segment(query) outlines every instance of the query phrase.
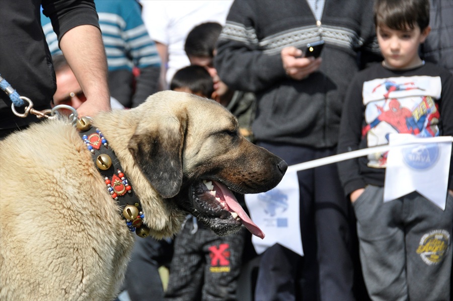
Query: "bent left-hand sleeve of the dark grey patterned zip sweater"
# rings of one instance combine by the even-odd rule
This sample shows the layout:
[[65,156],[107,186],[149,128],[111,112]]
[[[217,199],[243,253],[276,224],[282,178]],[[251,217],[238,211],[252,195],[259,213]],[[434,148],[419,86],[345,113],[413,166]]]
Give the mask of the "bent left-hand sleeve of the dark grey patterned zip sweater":
[[266,18],[266,3],[235,1],[217,41],[214,65],[219,77],[233,90],[259,92],[286,77],[280,53],[263,53],[256,38],[256,24]]

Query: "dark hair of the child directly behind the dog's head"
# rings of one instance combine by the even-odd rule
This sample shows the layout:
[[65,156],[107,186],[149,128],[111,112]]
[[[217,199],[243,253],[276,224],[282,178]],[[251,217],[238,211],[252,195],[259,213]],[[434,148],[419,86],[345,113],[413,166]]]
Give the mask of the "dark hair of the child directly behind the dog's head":
[[176,71],[170,83],[170,90],[176,88],[188,88],[194,94],[210,98],[214,92],[214,83],[204,67],[190,65]]

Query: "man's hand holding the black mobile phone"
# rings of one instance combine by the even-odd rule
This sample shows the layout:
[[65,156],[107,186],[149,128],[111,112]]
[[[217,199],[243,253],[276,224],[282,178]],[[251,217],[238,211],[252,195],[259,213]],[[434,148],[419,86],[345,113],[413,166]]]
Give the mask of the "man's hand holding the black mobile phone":
[[302,50],[293,46],[281,50],[281,61],[286,74],[293,80],[300,81],[319,69],[321,57],[301,57]]

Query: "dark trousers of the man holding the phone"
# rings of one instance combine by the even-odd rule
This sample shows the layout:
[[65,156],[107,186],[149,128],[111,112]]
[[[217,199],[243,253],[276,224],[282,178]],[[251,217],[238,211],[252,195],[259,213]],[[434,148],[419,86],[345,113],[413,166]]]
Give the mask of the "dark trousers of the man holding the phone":
[[[257,143],[288,165],[336,154],[335,148]],[[297,173],[304,257],[274,245],[261,255],[255,299],[354,300],[353,211],[335,164]],[[355,244],[356,247],[356,244]]]

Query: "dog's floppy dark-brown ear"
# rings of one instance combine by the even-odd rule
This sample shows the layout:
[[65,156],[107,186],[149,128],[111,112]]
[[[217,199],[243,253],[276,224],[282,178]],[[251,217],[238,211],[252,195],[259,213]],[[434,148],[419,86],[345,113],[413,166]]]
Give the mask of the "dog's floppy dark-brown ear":
[[175,196],[181,188],[185,129],[185,115],[168,118],[154,129],[139,126],[128,144],[135,163],[164,198]]

